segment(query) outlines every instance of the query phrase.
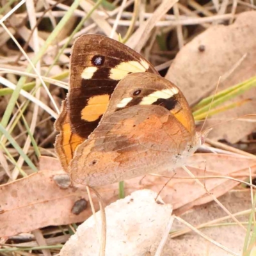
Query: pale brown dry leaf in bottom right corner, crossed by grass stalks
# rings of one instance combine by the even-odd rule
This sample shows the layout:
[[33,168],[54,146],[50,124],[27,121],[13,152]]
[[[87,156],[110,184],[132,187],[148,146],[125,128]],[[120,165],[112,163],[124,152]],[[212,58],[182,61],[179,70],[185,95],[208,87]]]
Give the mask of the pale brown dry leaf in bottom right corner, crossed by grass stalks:
[[[251,209],[252,207],[250,191],[248,190],[230,191],[226,195],[221,196],[219,200],[221,204],[225,205],[228,211],[232,212],[232,214]],[[223,218],[225,216],[227,216],[227,214],[225,214],[223,209],[221,209],[216,202],[211,202],[195,207],[192,211],[182,214],[181,217],[196,227],[197,225],[202,225],[208,221],[218,220],[218,218]],[[237,216],[237,218],[239,221],[248,221],[249,215],[247,213],[242,216]],[[229,222],[230,219],[222,221],[221,223]],[[177,231],[183,228],[187,227],[174,221],[172,230]],[[232,250],[232,252],[237,253],[237,255],[241,255],[243,252],[245,232],[237,225],[216,225],[215,227],[202,228],[200,231],[229,250]],[[207,242],[203,237],[195,234],[195,232],[190,232],[184,236],[170,238],[166,243],[163,252],[163,256],[167,255],[230,256],[231,254],[225,252],[218,246]]]

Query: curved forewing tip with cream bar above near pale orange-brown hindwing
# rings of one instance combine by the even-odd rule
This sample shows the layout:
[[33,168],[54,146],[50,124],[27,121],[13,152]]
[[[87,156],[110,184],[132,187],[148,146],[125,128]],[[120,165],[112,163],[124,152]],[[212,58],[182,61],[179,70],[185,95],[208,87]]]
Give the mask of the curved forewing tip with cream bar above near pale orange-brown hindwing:
[[145,72],[126,76],[118,83],[105,115],[136,105],[162,106],[191,134],[195,134],[195,121],[184,95],[177,86],[161,76]]

